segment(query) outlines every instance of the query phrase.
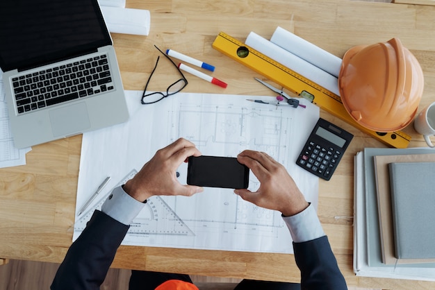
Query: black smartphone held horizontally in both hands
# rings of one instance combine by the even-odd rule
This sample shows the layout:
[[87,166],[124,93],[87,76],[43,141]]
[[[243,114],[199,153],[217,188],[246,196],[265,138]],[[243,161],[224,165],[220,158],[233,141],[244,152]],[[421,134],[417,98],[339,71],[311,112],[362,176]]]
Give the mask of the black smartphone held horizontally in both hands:
[[234,157],[190,156],[187,183],[201,187],[246,189],[249,168]]

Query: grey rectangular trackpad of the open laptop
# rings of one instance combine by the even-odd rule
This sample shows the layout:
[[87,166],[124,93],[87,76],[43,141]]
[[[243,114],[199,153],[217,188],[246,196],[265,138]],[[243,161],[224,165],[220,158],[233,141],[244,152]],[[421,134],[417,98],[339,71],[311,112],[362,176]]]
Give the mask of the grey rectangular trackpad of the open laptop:
[[82,130],[90,128],[86,103],[78,103],[57,110],[51,110],[49,114],[51,130],[56,137],[81,133]]

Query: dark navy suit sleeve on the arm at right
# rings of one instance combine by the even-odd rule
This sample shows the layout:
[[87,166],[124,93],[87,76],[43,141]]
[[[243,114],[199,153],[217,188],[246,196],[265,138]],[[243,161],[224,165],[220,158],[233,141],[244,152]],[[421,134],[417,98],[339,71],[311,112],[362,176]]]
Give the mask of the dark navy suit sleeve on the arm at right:
[[293,249],[301,271],[301,289],[347,289],[326,236],[293,243]]

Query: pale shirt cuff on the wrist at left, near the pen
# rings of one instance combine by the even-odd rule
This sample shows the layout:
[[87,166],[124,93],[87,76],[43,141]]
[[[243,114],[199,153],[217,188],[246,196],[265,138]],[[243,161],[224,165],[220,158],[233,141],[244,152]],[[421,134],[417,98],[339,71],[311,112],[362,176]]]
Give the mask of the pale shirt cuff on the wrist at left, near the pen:
[[103,203],[101,212],[120,223],[124,223],[124,225],[130,225],[143,207],[145,207],[145,203],[136,201],[122,187],[115,187]]

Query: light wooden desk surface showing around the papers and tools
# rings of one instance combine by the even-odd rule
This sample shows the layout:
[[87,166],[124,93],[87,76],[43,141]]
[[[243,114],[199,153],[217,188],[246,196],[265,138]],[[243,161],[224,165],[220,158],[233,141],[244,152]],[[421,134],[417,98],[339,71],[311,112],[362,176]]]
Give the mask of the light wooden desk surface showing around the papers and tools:
[[[420,61],[425,92],[420,109],[435,101],[435,7],[357,1],[288,0],[128,0],[127,7],[151,11],[149,36],[113,35],[125,89],[143,89],[158,51],[188,52],[217,67],[213,76],[229,83],[227,89],[186,75],[186,92],[266,94],[258,76],[212,49],[220,31],[245,40],[250,31],[269,38],[281,26],[342,57],[357,44],[399,37]],[[150,89],[164,90],[176,72],[159,64]],[[176,97],[176,96],[174,96]],[[352,271],[353,157],[365,147],[384,147],[331,115],[321,116],[355,135],[329,182],[320,180],[318,215],[329,236],[347,283],[382,289],[434,289],[435,283],[357,278]],[[412,126],[411,146],[425,146]],[[72,242],[81,136],[33,146],[27,165],[0,170],[0,257],[61,262]],[[122,246],[114,267],[182,272],[259,280],[299,281],[292,255],[226,253]]]

